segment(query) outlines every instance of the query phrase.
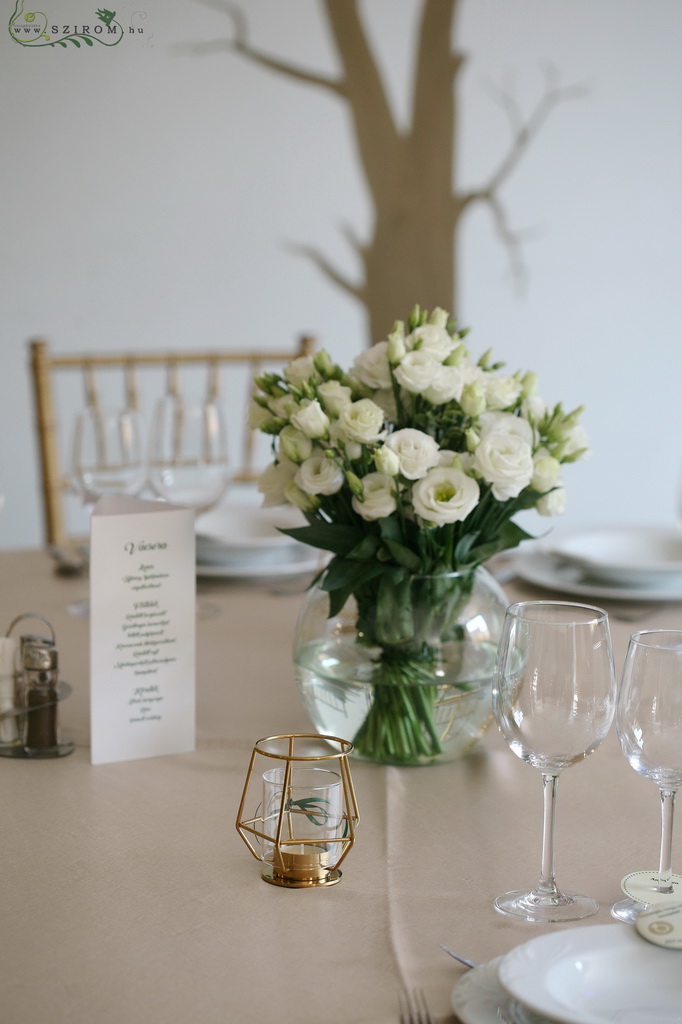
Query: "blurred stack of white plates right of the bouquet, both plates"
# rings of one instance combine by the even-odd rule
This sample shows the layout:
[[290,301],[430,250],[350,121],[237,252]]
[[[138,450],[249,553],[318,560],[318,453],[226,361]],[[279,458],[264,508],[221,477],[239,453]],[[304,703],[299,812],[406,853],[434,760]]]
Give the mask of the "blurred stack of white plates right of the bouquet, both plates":
[[528,546],[522,580],[581,597],[682,600],[682,532],[666,526],[594,527]]

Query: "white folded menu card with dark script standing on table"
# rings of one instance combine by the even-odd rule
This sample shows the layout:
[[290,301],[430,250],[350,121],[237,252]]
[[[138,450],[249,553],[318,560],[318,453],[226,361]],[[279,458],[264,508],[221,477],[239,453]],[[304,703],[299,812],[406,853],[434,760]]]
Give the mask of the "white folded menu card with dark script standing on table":
[[195,749],[195,514],[109,496],[90,527],[92,764]]

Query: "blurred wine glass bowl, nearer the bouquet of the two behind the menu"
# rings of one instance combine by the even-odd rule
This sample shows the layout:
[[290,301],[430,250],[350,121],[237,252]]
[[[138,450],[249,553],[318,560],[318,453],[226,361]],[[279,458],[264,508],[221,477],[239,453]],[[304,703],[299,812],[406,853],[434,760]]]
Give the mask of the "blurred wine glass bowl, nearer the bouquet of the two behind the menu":
[[158,403],[152,425],[150,482],[160,498],[197,515],[223,496],[230,478],[227,431],[214,400],[186,402],[177,393]]

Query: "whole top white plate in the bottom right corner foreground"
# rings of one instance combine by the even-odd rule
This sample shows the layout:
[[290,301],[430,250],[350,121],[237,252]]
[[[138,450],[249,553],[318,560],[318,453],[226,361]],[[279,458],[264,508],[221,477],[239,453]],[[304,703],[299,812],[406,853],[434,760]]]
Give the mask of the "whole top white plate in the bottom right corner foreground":
[[513,999],[558,1024],[682,1024],[682,957],[632,925],[540,935],[502,957]]

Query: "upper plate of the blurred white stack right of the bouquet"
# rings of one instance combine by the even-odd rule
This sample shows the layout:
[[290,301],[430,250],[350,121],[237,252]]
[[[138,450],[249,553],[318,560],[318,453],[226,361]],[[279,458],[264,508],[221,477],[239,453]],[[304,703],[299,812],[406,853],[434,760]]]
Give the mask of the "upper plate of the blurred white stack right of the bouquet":
[[567,534],[554,554],[580,565],[595,582],[652,587],[682,581],[682,532],[668,526],[597,526]]

